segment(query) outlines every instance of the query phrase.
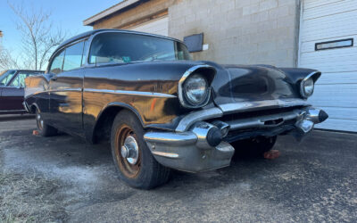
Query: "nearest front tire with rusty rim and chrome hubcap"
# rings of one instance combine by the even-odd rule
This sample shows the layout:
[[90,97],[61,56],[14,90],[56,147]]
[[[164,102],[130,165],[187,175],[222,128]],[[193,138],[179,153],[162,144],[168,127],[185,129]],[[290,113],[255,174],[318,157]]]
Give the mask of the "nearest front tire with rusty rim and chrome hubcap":
[[120,111],[112,124],[112,158],[119,178],[139,189],[166,183],[170,169],[158,163],[144,140],[144,129],[130,111]]

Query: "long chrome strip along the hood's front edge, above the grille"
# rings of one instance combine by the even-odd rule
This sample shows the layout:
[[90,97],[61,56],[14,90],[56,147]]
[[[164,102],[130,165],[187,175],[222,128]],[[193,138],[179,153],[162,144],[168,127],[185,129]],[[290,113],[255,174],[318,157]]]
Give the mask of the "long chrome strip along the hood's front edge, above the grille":
[[294,106],[311,106],[303,99],[277,99],[277,100],[264,100],[257,102],[244,102],[244,103],[225,103],[218,105],[223,113],[234,113],[244,111],[258,111],[262,108],[285,108]]

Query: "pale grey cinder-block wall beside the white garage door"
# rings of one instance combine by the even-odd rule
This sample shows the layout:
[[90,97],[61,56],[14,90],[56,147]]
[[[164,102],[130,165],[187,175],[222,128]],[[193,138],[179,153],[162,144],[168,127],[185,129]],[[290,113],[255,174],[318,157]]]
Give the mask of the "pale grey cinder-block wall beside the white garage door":
[[169,35],[204,34],[209,49],[195,60],[295,66],[298,0],[178,0],[169,8]]

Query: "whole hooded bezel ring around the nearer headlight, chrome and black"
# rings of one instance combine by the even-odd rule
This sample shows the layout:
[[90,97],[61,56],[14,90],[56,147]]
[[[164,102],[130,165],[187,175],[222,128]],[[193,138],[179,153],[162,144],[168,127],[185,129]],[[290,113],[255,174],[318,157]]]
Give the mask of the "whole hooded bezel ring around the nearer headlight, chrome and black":
[[[178,95],[179,95],[179,102],[181,103],[181,105],[189,109],[201,108],[207,105],[207,103],[211,101],[211,95],[212,95],[211,84],[215,74],[216,74],[216,70],[210,65],[197,65],[188,69],[184,73],[182,78],[179,79]],[[187,80],[189,80],[189,78],[195,77],[195,75],[200,75],[202,78],[206,80],[207,83],[205,98],[200,103],[194,103],[187,98],[187,92],[186,92]]]

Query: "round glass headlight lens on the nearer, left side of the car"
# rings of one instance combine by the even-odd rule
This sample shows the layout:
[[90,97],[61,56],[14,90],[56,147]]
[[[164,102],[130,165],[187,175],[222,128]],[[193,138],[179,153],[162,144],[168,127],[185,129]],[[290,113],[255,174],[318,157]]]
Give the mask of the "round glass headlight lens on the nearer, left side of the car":
[[209,87],[206,78],[200,74],[194,74],[187,78],[185,83],[185,94],[189,103],[199,105],[204,103],[209,96]]

